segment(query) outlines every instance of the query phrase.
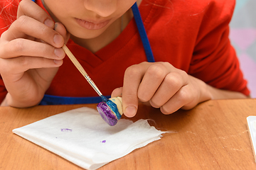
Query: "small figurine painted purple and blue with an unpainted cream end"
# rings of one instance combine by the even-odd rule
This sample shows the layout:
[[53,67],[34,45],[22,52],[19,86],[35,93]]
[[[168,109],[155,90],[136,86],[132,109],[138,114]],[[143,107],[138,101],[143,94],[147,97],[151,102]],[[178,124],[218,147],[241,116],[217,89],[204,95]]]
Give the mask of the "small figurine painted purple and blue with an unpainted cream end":
[[100,102],[97,105],[97,111],[110,126],[116,125],[123,114],[122,98],[110,98],[107,102]]

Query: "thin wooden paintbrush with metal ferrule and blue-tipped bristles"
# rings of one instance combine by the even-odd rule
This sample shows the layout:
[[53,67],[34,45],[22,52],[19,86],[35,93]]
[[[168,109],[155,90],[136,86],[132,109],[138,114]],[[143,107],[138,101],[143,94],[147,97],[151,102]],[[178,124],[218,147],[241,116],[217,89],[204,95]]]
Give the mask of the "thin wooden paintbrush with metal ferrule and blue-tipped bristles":
[[107,102],[107,98],[102,95],[100,90],[97,88],[96,84],[90,79],[87,72],[85,72],[85,69],[82,68],[82,65],[78,62],[78,60],[75,58],[75,56],[70,52],[68,47],[64,44],[63,50],[65,51],[66,55],[70,58],[71,62],[75,65],[75,67],[79,70],[79,72],[82,74],[83,77],[88,81],[88,83],[92,86],[92,88],[96,91],[96,93],[102,98],[102,101]]

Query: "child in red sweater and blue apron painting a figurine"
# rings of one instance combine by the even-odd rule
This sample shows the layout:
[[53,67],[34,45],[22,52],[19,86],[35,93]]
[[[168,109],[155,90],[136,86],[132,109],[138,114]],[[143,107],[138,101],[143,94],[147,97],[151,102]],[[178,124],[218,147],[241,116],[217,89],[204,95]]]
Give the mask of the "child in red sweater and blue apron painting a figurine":
[[234,5],[0,1],[1,106],[99,102],[65,57],[64,43],[103,95],[122,96],[128,117],[137,113],[139,101],[170,114],[210,99],[246,98],[250,91],[228,40]]

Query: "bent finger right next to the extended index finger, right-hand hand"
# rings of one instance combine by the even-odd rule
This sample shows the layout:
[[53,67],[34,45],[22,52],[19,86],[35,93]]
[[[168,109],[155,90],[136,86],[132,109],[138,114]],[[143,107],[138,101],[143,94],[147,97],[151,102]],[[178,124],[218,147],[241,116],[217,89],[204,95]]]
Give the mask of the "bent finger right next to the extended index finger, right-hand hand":
[[139,84],[139,100],[142,102],[149,101],[154,96],[168,72],[169,70],[161,62],[151,64],[146,69],[142,82]]

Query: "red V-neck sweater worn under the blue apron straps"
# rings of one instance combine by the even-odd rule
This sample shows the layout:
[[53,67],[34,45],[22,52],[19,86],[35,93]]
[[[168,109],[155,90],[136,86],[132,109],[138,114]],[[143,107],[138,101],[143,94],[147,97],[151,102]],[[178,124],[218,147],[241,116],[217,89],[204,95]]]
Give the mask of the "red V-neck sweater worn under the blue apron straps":
[[[0,7],[15,15],[17,4],[0,1]],[[41,1],[37,4],[43,8]],[[210,86],[249,95],[235,50],[228,39],[235,0],[143,0],[139,11],[156,62],[170,62]],[[0,17],[0,34],[8,28],[6,13]],[[146,61],[134,20],[106,47],[93,54],[68,41],[68,47],[97,84],[103,95],[122,86],[124,71],[132,64]],[[6,96],[0,79],[0,102]],[[55,96],[97,96],[92,87],[65,57],[46,94]]]

